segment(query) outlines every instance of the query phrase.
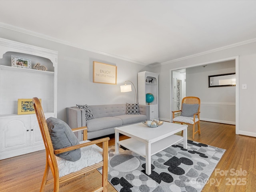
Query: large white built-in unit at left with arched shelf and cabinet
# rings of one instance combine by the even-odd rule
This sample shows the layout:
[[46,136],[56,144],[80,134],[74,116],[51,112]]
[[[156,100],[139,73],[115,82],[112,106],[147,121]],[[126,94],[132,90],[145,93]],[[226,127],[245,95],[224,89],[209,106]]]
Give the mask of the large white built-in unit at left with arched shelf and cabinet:
[[[12,55],[32,68],[12,66]],[[33,68],[38,62],[48,70]],[[56,51],[0,38],[0,160],[44,149],[36,115],[18,115],[18,99],[38,97],[46,118],[57,117],[57,64]]]

